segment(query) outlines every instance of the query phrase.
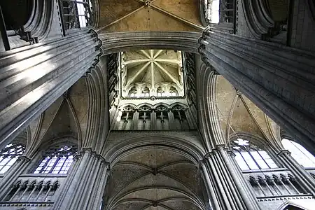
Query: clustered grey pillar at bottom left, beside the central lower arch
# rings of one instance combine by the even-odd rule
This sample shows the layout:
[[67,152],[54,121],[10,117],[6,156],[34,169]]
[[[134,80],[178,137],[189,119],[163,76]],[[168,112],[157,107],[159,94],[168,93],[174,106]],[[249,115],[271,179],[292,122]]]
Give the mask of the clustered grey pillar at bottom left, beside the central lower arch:
[[99,209],[109,176],[109,165],[90,148],[83,148],[78,160],[59,188],[53,209]]

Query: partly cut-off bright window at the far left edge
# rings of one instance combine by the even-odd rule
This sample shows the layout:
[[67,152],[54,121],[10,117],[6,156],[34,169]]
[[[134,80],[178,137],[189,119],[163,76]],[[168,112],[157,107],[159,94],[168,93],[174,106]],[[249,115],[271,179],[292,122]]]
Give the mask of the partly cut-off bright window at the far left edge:
[[8,144],[0,151],[0,174],[3,174],[18,160],[18,156],[25,151],[25,146],[22,144]]

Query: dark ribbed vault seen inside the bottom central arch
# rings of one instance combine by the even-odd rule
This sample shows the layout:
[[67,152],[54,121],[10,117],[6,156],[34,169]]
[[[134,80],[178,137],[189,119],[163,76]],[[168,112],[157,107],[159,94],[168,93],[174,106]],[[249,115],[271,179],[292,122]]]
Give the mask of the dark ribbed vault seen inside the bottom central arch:
[[111,174],[107,210],[205,209],[197,166],[174,151],[153,146],[128,153]]

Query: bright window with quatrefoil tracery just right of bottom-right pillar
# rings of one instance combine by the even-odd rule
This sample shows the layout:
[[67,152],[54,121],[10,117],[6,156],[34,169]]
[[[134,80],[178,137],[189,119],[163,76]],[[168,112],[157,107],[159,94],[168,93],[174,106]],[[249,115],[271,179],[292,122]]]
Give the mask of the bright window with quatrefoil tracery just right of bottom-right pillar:
[[250,144],[247,140],[237,139],[233,141],[232,150],[241,170],[277,168],[266,151]]

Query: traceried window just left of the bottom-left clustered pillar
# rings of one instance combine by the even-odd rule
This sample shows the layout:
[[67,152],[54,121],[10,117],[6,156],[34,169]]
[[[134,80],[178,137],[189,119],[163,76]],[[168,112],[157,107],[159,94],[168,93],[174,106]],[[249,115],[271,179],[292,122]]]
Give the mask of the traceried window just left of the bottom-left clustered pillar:
[[48,148],[36,167],[34,174],[66,174],[76,155],[78,146],[63,145]]

